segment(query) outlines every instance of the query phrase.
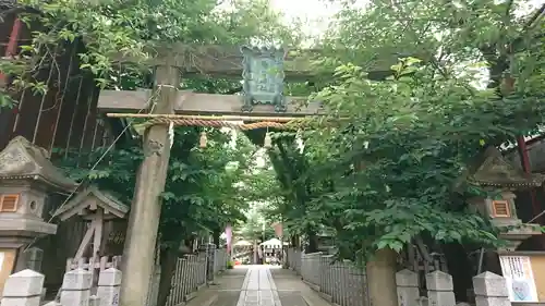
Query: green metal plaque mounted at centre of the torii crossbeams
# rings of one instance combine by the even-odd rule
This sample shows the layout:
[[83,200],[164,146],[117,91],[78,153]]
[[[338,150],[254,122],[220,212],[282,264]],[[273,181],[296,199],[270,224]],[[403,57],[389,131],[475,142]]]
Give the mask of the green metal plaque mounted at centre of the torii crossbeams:
[[271,105],[284,112],[283,49],[242,47],[243,94],[242,111],[251,112],[256,105]]

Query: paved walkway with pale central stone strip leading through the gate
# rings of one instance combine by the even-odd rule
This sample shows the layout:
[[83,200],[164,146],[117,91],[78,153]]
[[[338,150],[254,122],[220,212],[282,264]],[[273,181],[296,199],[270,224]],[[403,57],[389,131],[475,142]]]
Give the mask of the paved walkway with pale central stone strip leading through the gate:
[[217,277],[187,306],[330,306],[292,271],[242,266]]

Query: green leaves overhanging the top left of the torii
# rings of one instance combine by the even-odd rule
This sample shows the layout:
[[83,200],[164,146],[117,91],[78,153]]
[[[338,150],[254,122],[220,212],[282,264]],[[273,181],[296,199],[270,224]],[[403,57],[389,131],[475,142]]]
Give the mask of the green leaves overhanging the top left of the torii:
[[[44,85],[39,84],[44,79],[35,72],[58,65],[65,53],[77,52],[74,62],[82,72],[94,76],[99,88],[135,89],[150,86],[143,77],[149,74],[145,62],[155,56],[159,45],[292,45],[300,39],[296,25],[280,23],[280,15],[264,0],[235,0],[229,9],[218,7],[216,0],[111,0],[94,4],[84,0],[22,0],[20,4],[34,9],[28,10],[33,13],[20,15],[33,25],[32,39],[20,46],[21,59],[10,59],[0,71],[15,76],[17,89],[39,89],[34,90],[39,95],[45,95],[48,87],[38,86]],[[208,83],[221,87],[221,82]]]

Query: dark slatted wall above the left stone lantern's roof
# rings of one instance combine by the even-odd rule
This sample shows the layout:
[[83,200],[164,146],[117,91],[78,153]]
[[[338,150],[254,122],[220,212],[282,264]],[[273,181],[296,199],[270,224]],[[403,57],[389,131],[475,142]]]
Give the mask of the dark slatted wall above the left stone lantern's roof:
[[[13,16],[0,24],[2,56],[5,56],[13,24]],[[29,38],[31,32],[23,27],[17,42],[24,44]],[[92,149],[104,144],[106,128],[96,109],[98,89],[93,76],[78,69],[77,51],[82,48],[77,41],[64,46],[64,51],[58,54],[58,69],[39,72],[39,77],[48,83],[46,95],[35,95],[31,90],[13,94],[19,105],[13,109],[0,109],[0,149],[17,135],[48,151],[53,147]]]

